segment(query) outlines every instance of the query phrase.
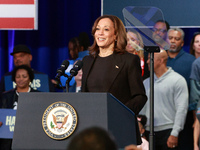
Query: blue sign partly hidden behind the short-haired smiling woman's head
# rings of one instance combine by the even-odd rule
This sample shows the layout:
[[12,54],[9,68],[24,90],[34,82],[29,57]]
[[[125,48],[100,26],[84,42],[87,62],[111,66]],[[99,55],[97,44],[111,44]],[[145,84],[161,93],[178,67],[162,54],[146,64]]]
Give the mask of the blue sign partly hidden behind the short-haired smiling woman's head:
[[[16,83],[12,81],[12,76],[8,75],[4,77],[5,79],[5,90],[11,90],[15,88]],[[34,73],[34,79],[31,83],[31,87],[35,90],[41,92],[49,92],[49,78],[46,74]]]

